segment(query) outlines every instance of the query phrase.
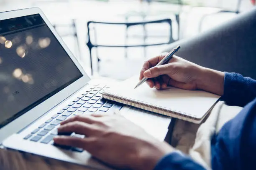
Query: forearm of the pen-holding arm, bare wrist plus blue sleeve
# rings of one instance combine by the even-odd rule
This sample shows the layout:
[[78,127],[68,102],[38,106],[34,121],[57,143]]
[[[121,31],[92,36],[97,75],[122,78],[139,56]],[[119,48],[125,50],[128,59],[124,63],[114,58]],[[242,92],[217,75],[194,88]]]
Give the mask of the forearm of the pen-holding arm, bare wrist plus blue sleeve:
[[197,89],[222,96],[228,105],[244,106],[256,97],[256,80],[240,74],[200,67]]

